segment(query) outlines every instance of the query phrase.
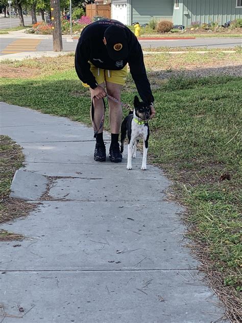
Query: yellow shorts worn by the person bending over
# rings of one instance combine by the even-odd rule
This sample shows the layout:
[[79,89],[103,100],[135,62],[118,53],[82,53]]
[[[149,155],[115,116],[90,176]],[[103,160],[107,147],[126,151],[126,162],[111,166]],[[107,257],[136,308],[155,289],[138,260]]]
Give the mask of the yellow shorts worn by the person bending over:
[[[125,85],[127,75],[128,75],[127,65],[125,65],[125,67],[119,71],[102,70],[102,68],[96,67],[92,63],[90,63],[90,65],[91,65],[90,71],[94,75],[96,82],[98,84],[101,84],[104,81],[107,81],[114,84]],[[88,84],[83,82],[82,82],[82,85],[84,87],[89,87]]]

